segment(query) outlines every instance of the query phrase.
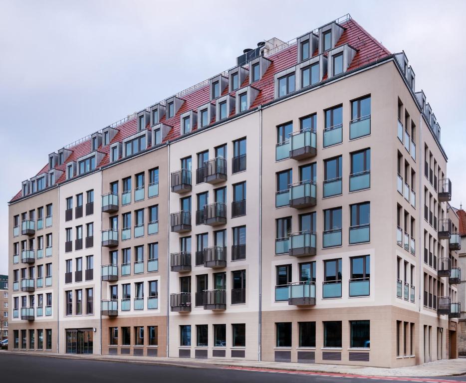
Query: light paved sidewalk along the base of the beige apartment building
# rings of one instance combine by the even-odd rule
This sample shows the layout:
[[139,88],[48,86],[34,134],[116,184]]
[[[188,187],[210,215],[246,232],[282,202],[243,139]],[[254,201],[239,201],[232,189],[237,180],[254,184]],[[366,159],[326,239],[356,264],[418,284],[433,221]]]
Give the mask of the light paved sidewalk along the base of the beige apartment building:
[[412,367],[388,369],[382,367],[360,367],[345,365],[320,365],[304,363],[254,362],[219,359],[184,359],[157,357],[128,357],[122,355],[71,355],[71,354],[31,354],[20,351],[0,351],[1,354],[37,355],[49,358],[86,359],[107,362],[165,365],[186,368],[244,368],[257,370],[303,371],[329,374],[350,374],[371,377],[447,377],[466,374],[466,359],[444,359]]

